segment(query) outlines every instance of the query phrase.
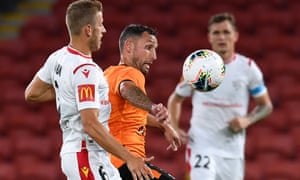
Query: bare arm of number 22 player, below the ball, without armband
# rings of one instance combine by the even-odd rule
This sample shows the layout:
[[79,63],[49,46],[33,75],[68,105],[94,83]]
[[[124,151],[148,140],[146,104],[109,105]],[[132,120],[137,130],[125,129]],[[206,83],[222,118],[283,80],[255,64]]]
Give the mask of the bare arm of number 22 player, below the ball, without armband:
[[174,127],[178,132],[182,143],[186,143],[188,141],[188,135],[179,127],[181,109],[184,100],[185,97],[178,95],[175,91],[170,95],[168,99],[169,118],[172,127]]

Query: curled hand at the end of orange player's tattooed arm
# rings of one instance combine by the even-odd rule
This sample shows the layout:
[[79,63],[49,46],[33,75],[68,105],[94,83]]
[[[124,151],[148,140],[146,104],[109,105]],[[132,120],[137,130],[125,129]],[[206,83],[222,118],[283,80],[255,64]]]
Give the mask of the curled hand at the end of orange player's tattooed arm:
[[160,123],[167,123],[169,122],[169,112],[168,109],[161,103],[153,104],[151,107],[152,115],[155,116],[156,120]]

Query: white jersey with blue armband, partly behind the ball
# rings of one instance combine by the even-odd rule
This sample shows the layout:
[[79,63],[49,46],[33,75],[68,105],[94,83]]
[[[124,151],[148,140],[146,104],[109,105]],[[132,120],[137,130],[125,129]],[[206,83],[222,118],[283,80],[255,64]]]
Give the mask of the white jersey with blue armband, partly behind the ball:
[[192,96],[192,116],[189,129],[190,146],[214,155],[228,158],[244,158],[245,130],[233,133],[228,122],[248,111],[249,95],[266,93],[261,70],[255,62],[235,54],[225,65],[225,77],[221,85],[210,92],[193,91],[186,83],[176,87],[180,96]]

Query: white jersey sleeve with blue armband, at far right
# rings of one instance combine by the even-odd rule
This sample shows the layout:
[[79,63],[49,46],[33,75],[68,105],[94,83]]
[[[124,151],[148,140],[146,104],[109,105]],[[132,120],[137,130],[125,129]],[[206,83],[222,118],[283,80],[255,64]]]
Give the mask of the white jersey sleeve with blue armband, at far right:
[[259,97],[266,93],[267,88],[263,80],[263,74],[257,64],[252,61],[250,66],[249,89],[253,97]]

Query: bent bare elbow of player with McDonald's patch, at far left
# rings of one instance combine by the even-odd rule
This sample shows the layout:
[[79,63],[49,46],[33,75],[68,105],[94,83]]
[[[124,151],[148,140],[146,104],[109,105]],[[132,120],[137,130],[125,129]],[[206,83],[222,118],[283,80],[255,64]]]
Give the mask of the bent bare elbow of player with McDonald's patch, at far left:
[[45,83],[37,75],[25,89],[25,100],[44,102],[55,100],[55,91],[51,84]]

